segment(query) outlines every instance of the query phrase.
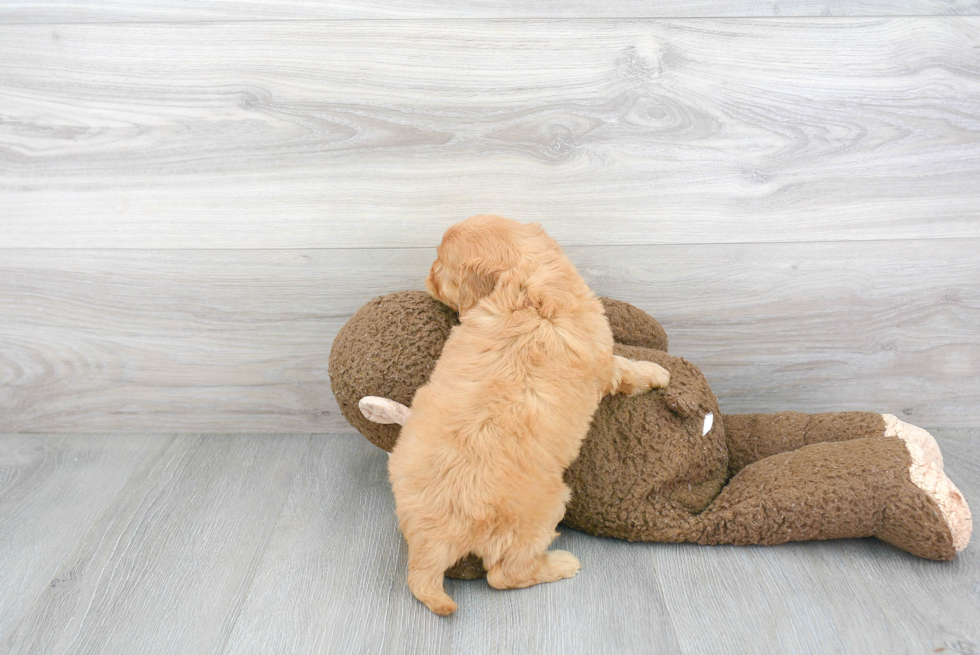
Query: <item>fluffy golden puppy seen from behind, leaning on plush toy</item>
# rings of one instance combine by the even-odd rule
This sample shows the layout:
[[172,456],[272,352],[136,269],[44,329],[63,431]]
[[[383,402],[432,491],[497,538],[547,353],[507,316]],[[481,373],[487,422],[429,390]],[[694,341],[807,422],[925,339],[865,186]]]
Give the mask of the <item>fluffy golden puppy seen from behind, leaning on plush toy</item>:
[[602,304],[540,225],[474,216],[450,227],[425,281],[459,312],[389,459],[408,542],[408,586],[436,614],[443,574],[483,559],[497,589],[574,576],[548,545],[565,514],[562,476],[609,393],[664,387],[669,373],[614,356]]

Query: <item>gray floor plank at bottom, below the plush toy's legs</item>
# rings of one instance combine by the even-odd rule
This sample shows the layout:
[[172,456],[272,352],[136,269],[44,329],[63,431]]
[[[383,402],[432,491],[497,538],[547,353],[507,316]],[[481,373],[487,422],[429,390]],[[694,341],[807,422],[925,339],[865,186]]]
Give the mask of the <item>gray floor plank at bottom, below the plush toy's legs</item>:
[[[776,547],[665,545],[651,557],[684,653],[897,653],[892,625],[850,570],[887,557],[859,542]],[[680,601],[683,599],[683,601]],[[723,629],[718,616],[726,616]]]

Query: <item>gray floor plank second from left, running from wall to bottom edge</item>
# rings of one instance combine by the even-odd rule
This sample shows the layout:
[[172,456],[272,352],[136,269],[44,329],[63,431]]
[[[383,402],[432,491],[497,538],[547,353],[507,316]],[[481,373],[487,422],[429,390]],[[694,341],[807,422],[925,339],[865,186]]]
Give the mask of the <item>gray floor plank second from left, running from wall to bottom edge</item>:
[[61,584],[0,648],[220,652],[308,445],[306,435],[179,436],[121,490],[61,563]]

